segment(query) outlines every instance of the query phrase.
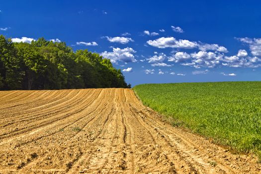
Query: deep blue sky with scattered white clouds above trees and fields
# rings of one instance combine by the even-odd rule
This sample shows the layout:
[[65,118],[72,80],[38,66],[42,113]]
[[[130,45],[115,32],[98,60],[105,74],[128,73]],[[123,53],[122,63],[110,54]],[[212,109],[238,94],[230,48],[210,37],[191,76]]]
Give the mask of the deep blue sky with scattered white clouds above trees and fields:
[[260,81],[258,0],[2,0],[0,34],[111,59],[132,86]]

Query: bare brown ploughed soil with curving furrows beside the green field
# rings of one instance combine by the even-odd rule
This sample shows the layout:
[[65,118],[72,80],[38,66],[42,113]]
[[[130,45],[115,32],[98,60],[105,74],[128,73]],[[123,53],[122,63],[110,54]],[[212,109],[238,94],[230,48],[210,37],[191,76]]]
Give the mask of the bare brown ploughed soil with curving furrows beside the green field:
[[260,174],[131,89],[0,91],[0,174]]

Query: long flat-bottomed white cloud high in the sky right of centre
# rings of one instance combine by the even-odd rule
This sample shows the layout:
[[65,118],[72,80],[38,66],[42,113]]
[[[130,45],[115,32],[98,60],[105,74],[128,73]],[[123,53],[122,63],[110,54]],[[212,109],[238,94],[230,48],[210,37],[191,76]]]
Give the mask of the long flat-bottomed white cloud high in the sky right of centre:
[[176,40],[174,37],[161,37],[156,40],[149,40],[147,43],[158,48],[186,48],[192,49],[197,46],[197,43],[188,40]]

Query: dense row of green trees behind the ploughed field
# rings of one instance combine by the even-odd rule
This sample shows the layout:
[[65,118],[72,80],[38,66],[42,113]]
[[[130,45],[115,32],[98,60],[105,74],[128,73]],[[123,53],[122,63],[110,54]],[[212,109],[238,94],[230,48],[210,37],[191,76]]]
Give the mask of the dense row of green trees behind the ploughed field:
[[65,42],[13,43],[0,35],[0,90],[130,87],[110,60]]

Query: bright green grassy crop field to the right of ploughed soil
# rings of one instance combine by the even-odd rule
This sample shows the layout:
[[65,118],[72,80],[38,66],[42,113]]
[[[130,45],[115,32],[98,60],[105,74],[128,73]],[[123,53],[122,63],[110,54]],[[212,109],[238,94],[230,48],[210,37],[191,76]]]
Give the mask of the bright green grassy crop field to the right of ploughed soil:
[[142,102],[173,125],[213,138],[261,159],[261,82],[144,84],[133,88]]

